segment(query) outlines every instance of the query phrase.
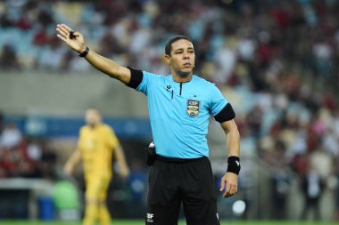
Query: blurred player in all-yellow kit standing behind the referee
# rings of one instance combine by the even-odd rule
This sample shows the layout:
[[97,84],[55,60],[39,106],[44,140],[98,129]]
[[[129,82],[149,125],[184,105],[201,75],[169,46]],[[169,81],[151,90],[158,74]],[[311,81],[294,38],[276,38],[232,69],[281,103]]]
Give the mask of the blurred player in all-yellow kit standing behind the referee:
[[120,165],[120,175],[127,177],[129,170],[120,142],[109,125],[102,123],[100,112],[89,108],[86,123],[79,132],[77,149],[63,168],[71,175],[82,159],[86,183],[86,210],[83,225],[111,225],[111,216],[105,204],[107,189],[112,179],[112,154]]

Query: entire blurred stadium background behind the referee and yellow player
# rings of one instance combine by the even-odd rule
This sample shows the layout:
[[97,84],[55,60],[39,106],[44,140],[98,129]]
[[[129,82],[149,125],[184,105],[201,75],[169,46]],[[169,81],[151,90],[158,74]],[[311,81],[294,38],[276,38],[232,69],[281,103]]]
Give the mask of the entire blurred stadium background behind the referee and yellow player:
[[[222,220],[339,221],[338,12],[336,0],[0,1],[0,221],[81,218],[81,167],[74,179],[61,171],[89,107],[131,169],[112,180],[112,217],[145,214],[145,96],[71,52],[57,23],[122,65],[163,75],[168,38],[193,40],[195,74],[232,103],[242,136],[239,193],[218,194]],[[213,120],[209,131],[218,186],[225,137]]]

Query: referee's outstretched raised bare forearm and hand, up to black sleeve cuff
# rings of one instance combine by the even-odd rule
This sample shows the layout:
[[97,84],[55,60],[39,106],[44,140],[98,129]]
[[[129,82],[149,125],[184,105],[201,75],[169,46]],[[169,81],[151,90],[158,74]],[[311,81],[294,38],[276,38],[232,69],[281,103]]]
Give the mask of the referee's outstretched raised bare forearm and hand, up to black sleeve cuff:
[[65,24],[56,26],[57,36],[62,39],[72,50],[79,53],[95,68],[113,78],[120,80],[124,84],[129,84],[131,73],[128,68],[122,67],[115,61],[107,59],[91,49],[88,49],[85,38],[79,31],[73,31]]

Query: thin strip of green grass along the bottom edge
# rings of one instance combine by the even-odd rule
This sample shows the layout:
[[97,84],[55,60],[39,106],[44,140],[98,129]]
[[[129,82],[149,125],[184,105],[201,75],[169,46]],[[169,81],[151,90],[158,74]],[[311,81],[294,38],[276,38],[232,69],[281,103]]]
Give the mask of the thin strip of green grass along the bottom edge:
[[[143,225],[144,221],[114,220],[112,225]],[[223,221],[221,225],[337,225],[338,222],[315,222],[315,221]],[[0,221],[0,225],[81,225],[80,222],[64,221]],[[180,221],[178,225],[186,225]]]

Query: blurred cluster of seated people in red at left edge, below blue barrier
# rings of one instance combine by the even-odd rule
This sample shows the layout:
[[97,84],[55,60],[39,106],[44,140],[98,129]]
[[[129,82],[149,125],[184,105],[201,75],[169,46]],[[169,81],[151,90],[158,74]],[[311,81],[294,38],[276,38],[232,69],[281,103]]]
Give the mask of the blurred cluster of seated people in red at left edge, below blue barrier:
[[0,123],[0,179],[55,178],[56,153],[47,141],[29,138],[13,123]]

